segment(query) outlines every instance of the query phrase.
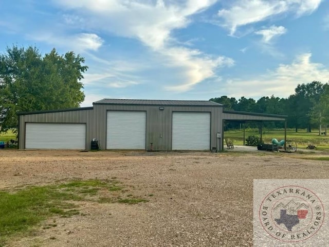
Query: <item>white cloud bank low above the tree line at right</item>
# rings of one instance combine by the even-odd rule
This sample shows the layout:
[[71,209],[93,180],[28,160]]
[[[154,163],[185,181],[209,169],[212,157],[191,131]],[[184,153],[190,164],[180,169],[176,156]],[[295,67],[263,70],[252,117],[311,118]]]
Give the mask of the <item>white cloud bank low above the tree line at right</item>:
[[[288,97],[294,94],[297,84],[321,81],[329,78],[329,69],[321,63],[310,61],[312,54],[298,56],[291,64],[280,64],[275,70],[269,70],[255,79],[235,78],[227,81],[226,92],[230,96],[262,97],[279,95]],[[257,90],[255,90],[257,89]]]

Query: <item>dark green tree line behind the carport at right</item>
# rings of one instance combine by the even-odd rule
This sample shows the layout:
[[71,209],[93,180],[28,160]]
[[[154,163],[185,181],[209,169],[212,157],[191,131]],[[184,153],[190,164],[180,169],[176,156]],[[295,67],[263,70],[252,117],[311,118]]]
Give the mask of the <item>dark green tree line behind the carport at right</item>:
[[[287,115],[287,127],[307,129],[326,126],[329,123],[329,85],[320,81],[306,84],[298,84],[295,93],[287,98],[264,96],[257,101],[252,98],[221,96],[211,98],[211,101],[224,104],[224,110],[245,111],[265,114]],[[281,128],[282,122],[265,123],[269,128]],[[228,128],[236,128],[236,124],[230,123]]]

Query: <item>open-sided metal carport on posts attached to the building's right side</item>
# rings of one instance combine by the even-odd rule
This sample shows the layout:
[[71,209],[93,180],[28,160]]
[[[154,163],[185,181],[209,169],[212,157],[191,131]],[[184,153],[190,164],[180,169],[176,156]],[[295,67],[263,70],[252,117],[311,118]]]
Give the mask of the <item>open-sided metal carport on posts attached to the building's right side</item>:
[[[286,115],[264,114],[254,112],[238,112],[238,111],[223,111],[223,124],[222,124],[222,150],[224,150],[224,123],[225,122],[259,122],[260,123],[260,138],[262,140],[262,122],[265,121],[284,121],[284,150],[287,149],[287,117]],[[243,125],[243,145],[245,145],[245,125]]]

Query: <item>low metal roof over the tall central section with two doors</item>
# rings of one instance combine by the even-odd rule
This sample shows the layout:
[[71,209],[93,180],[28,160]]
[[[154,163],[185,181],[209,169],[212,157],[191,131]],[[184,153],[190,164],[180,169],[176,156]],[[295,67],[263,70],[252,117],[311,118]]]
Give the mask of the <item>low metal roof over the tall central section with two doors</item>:
[[151,99],[101,99],[93,104],[137,104],[137,105],[186,105],[200,107],[222,107],[223,104],[209,100],[151,100]]

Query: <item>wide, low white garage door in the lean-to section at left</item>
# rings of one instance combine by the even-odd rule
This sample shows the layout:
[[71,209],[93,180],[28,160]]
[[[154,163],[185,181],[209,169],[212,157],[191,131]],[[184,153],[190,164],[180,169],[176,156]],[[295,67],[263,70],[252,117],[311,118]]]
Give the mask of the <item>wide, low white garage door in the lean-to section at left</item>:
[[26,149],[86,149],[84,123],[27,122]]

